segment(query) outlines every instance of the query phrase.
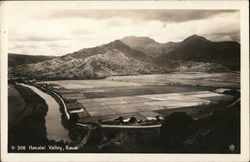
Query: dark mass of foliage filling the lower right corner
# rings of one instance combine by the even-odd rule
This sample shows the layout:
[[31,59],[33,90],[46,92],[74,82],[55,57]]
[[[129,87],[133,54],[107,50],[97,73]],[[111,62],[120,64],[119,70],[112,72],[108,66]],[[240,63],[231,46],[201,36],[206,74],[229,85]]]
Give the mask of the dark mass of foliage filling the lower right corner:
[[163,152],[240,153],[240,102],[198,120],[172,113],[163,123],[159,142]]

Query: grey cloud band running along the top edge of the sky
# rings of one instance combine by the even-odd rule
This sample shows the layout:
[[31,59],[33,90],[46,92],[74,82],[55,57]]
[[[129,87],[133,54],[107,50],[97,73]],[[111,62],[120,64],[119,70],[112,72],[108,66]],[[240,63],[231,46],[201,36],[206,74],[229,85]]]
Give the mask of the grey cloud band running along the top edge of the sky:
[[129,19],[184,22],[232,12],[237,12],[237,10],[57,10],[51,12],[46,18],[107,19],[124,17]]

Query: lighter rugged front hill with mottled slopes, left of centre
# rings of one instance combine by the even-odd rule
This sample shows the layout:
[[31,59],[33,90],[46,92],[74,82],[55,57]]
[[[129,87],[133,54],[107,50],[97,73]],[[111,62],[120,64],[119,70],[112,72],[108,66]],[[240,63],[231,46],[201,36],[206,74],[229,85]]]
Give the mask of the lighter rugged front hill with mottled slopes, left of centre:
[[36,64],[20,65],[10,70],[14,76],[36,79],[97,79],[114,75],[166,73],[167,68],[135,60],[112,49],[86,59],[66,55]]

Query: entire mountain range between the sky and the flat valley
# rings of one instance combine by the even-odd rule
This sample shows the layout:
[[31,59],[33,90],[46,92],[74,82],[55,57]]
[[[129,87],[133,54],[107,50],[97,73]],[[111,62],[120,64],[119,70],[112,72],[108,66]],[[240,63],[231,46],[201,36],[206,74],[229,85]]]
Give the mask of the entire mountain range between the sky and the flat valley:
[[148,37],[130,36],[39,63],[18,65],[9,72],[37,79],[84,79],[174,71],[225,72],[239,68],[237,42],[212,42],[192,35],[181,42],[158,43]]

